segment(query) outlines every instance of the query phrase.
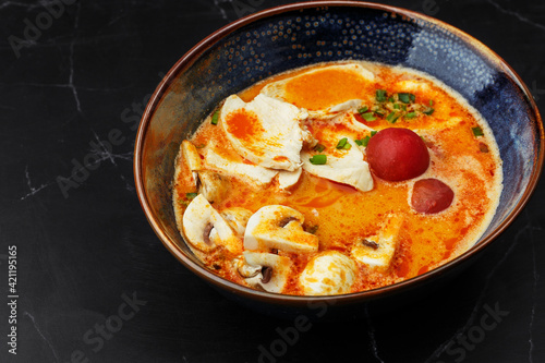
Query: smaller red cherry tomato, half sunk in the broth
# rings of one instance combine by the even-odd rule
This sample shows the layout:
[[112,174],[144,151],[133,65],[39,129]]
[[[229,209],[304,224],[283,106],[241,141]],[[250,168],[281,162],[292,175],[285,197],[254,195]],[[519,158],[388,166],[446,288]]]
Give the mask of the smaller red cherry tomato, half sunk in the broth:
[[414,183],[411,205],[419,213],[435,214],[447,209],[453,198],[455,192],[440,180],[422,179]]

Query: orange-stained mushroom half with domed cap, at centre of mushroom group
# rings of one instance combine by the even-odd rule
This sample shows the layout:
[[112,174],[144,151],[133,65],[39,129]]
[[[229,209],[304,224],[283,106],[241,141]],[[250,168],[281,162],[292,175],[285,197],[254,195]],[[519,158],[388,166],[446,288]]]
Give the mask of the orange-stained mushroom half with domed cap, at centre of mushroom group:
[[318,251],[318,238],[303,230],[304,216],[283,205],[257,210],[247,221],[244,249],[310,253]]

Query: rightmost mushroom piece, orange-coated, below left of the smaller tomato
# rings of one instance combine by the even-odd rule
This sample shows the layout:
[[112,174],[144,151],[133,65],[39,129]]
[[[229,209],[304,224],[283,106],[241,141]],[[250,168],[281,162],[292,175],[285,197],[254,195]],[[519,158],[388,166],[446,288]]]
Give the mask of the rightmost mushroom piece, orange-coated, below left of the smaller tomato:
[[399,245],[399,231],[402,225],[402,216],[389,216],[378,235],[354,244],[352,256],[371,268],[388,269]]

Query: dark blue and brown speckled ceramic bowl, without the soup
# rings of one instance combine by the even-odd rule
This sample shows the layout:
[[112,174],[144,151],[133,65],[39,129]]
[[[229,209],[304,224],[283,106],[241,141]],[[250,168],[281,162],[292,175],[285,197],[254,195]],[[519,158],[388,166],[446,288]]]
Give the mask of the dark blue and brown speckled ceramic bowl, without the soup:
[[[227,96],[290,69],[367,60],[426,72],[460,93],[496,136],[504,160],[497,213],[476,244],[448,264],[400,283],[335,297],[291,297],[252,290],[210,273],[177,230],[171,207],[174,158]],[[512,222],[532,194],[544,160],[543,123],[513,70],[463,32],[408,10],[353,1],[313,1],[246,16],[211,34],[165,76],[138,129],[134,171],[138,197],[165,246],[190,270],[246,305],[280,315],[332,306],[350,311],[443,283],[480,255]],[[419,292],[420,293],[420,292]],[[391,299],[390,299],[391,300]],[[331,311],[330,310],[330,311]]]

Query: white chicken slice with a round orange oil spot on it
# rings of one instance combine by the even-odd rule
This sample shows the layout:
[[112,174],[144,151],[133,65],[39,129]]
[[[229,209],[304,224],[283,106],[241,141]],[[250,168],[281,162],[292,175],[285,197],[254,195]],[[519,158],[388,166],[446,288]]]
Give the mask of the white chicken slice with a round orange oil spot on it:
[[220,123],[233,148],[243,158],[265,168],[294,171],[308,135],[300,121],[308,113],[298,107],[257,95],[244,102],[229,96],[220,111]]

